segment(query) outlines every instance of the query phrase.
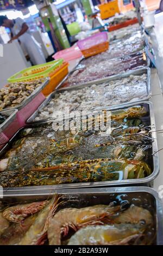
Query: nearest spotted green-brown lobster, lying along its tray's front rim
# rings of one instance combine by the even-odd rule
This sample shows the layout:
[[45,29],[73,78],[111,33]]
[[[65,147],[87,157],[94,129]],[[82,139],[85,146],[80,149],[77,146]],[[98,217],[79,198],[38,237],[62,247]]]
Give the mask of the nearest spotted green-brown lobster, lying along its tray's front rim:
[[46,168],[6,171],[3,187],[57,185],[77,182],[142,179],[152,173],[147,163],[126,159],[85,160]]

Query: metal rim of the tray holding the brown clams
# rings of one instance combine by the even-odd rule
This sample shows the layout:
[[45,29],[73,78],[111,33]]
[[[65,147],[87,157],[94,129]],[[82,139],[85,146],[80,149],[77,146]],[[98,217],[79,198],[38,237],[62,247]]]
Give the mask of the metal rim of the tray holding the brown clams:
[[34,97],[39,94],[41,92],[41,90],[47,85],[47,83],[49,82],[49,78],[47,77],[45,79],[45,81],[41,84],[41,86],[39,86],[38,88],[36,88],[34,90],[34,92],[32,94],[30,94],[21,104],[13,107],[13,108],[5,108],[4,110],[11,110],[11,109],[18,109],[21,110],[23,107],[25,107],[30,101],[32,101],[34,99]]

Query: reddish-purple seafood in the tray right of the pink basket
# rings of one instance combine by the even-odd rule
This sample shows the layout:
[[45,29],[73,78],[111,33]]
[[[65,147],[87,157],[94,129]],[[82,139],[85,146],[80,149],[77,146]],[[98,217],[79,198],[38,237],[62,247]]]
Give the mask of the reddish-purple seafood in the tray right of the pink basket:
[[121,58],[103,60],[102,62],[85,66],[82,62],[77,69],[62,84],[62,87],[74,86],[76,84],[97,80],[111,75],[121,74],[125,71],[140,69],[147,66],[142,52],[136,52]]

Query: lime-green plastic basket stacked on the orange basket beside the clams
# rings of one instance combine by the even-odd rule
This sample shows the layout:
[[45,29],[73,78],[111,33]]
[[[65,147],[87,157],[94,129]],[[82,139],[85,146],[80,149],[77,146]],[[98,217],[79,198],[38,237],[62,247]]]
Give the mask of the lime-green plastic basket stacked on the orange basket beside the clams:
[[8,82],[25,82],[52,76],[55,69],[62,65],[63,62],[64,59],[58,59],[45,64],[31,66],[30,68],[23,69],[22,71],[19,71],[13,76],[9,77]]

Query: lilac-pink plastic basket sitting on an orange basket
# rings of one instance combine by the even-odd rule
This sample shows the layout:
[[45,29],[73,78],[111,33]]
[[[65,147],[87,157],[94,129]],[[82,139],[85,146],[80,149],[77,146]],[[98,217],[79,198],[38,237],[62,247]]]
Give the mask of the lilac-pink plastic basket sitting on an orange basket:
[[108,34],[107,32],[99,32],[95,35],[90,36],[89,38],[79,40],[77,45],[79,46],[80,50],[89,49],[95,45],[102,44],[103,42],[108,41]]

